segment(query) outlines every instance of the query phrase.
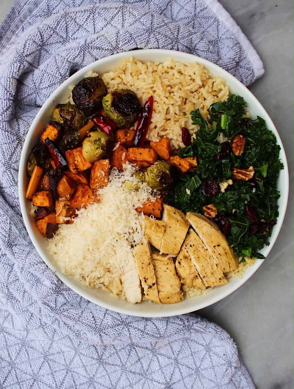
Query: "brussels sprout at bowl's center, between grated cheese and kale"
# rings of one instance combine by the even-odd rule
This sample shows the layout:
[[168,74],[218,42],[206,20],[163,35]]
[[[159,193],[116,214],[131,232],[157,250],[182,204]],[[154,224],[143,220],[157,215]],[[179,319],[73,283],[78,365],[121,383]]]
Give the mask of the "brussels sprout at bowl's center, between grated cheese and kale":
[[165,161],[159,161],[143,171],[142,177],[151,189],[165,191],[172,182],[170,165]]

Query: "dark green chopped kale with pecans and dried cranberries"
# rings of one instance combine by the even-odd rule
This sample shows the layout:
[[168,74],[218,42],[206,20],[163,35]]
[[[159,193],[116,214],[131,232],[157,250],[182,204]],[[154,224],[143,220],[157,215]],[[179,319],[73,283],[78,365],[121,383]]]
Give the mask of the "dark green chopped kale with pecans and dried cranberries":
[[[209,109],[210,119],[206,122],[199,109],[191,112],[192,123],[199,126],[191,145],[178,152],[181,157],[196,156],[196,172],[182,175],[169,195],[169,202],[184,212],[204,214],[203,206],[214,204],[218,217],[228,217],[231,230],[228,242],[238,257],[264,258],[258,251],[268,245],[268,237],[278,217],[277,179],[283,165],[280,161],[280,146],[265,121],[257,116],[252,120],[244,115],[246,102],[241,96],[231,95],[227,102],[217,102]],[[210,125],[208,125],[210,124]],[[223,133],[229,139],[220,144]],[[235,156],[231,149],[233,138],[241,134],[245,138],[245,149]],[[213,197],[203,195],[201,187],[207,179],[218,183],[232,179],[233,167],[254,167],[254,178],[249,181],[233,180],[226,191]],[[188,189],[188,190],[186,190]],[[252,223],[244,210],[249,204],[257,211],[258,221]]]

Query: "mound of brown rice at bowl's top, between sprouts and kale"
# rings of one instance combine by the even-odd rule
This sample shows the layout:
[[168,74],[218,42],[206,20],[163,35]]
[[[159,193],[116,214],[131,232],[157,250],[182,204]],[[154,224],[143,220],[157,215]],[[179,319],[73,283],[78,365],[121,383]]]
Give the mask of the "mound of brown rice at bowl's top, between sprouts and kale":
[[212,74],[199,63],[187,65],[172,59],[164,63],[143,63],[125,58],[118,68],[100,75],[108,91],[131,89],[142,104],[154,97],[154,107],[148,139],[168,137],[174,148],[184,147],[181,128],[187,127],[191,135],[197,127],[191,122],[190,112],[199,108],[207,119],[207,108],[229,96],[226,81]]

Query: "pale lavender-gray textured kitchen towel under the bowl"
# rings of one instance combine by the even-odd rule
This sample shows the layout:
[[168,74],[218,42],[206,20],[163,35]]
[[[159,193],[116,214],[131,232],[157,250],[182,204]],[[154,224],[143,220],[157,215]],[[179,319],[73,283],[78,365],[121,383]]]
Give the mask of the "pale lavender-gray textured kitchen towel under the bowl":
[[47,268],[23,225],[17,170],[39,108],[71,72],[135,47],[198,54],[245,85],[263,74],[216,0],[17,0],[0,27],[0,388],[254,388],[221,328],[84,300]]

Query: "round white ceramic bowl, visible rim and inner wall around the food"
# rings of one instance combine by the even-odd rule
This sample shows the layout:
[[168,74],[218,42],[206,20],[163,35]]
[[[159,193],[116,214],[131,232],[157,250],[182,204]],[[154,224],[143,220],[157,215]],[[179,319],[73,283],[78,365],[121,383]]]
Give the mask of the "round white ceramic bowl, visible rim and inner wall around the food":
[[193,312],[201,308],[205,308],[208,305],[211,305],[222,298],[228,296],[230,293],[235,291],[240,287],[245,281],[247,281],[254,272],[261,266],[263,260],[257,259],[254,265],[250,266],[244,273],[243,278],[231,278],[229,279],[228,284],[220,287],[215,287],[205,295],[196,296],[193,298],[186,298],[184,301],[177,304],[170,305],[158,305],[155,303],[150,303],[149,301],[143,301],[140,304],[131,305],[125,300],[115,299],[111,297],[107,292],[91,289],[80,284],[80,282],[74,280],[72,277],[64,275],[59,272],[58,268],[53,262],[53,258],[49,255],[47,251],[47,241],[42,237],[40,232],[35,226],[35,221],[33,217],[30,216],[31,202],[25,199],[25,191],[28,184],[28,178],[26,177],[26,161],[30,154],[32,147],[35,145],[37,139],[40,137],[40,134],[44,130],[44,127],[51,119],[51,114],[57,103],[61,102],[63,99],[67,98],[69,95],[68,87],[71,84],[77,84],[89,70],[93,70],[98,74],[108,72],[112,68],[115,68],[119,65],[122,58],[133,56],[134,58],[146,62],[146,61],[159,61],[163,62],[168,58],[173,58],[173,60],[190,63],[197,61],[198,63],[203,64],[212,74],[219,75],[223,77],[231,93],[243,96],[245,101],[248,104],[248,110],[252,114],[252,117],[261,116],[268,126],[268,128],[275,133],[277,137],[277,142],[281,146],[280,158],[284,164],[284,170],[280,172],[280,177],[278,179],[278,190],[280,190],[281,196],[278,200],[280,216],[278,217],[277,224],[273,227],[273,232],[270,237],[270,245],[264,247],[261,251],[264,256],[267,256],[273,244],[275,243],[278,233],[280,232],[285,211],[287,207],[288,200],[288,190],[289,190],[289,175],[287,160],[285,156],[284,147],[282,145],[281,139],[278,135],[278,131],[275,128],[275,125],[271,121],[270,116],[267,114],[266,110],[263,108],[261,103],[252,95],[252,93],[247,89],[240,81],[238,81],[231,74],[215,65],[214,63],[204,60],[203,58],[194,56],[192,54],[182,53],[179,51],[172,50],[160,50],[160,49],[147,49],[147,50],[135,50],[128,51],[126,53],[114,54],[112,56],[102,58],[96,62],[91,63],[90,65],[82,68],[71,77],[69,77],[65,82],[63,82],[59,88],[52,93],[51,96],[46,100],[42,108],[39,110],[37,116],[33,120],[32,125],[28,131],[28,134],[23,145],[23,150],[21,152],[21,159],[19,163],[19,174],[18,174],[18,188],[19,188],[19,202],[21,206],[21,213],[23,215],[23,220],[25,222],[26,229],[30,238],[35,246],[36,250],[40,254],[43,261],[46,265],[56,273],[57,277],[63,281],[68,287],[73,289],[76,293],[80,294],[89,301],[92,301],[94,304],[100,305],[101,307],[120,312],[122,314],[142,316],[142,317],[164,317],[164,316],[173,316],[185,314],[188,312]]

